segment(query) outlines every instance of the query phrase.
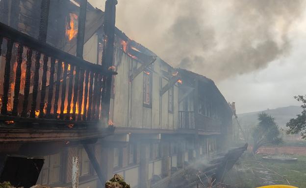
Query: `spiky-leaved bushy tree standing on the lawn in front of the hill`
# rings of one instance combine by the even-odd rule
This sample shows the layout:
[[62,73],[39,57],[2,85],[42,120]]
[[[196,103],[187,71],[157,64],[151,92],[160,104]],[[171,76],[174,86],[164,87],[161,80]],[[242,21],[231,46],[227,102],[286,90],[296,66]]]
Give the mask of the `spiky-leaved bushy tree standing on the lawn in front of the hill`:
[[258,125],[253,130],[253,153],[267,144],[278,145],[281,143],[280,129],[275,118],[265,112],[258,114]]

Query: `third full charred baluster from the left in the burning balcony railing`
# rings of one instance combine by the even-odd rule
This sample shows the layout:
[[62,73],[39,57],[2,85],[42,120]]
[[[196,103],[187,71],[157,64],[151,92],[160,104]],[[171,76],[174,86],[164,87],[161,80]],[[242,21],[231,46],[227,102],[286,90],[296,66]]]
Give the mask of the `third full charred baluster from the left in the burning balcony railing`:
[[32,50],[30,48],[26,51],[26,82],[25,82],[25,89],[24,89],[24,104],[23,104],[23,111],[21,113],[22,117],[27,116],[27,104],[28,104],[28,96],[30,92],[30,82],[31,82],[31,65],[32,65]]

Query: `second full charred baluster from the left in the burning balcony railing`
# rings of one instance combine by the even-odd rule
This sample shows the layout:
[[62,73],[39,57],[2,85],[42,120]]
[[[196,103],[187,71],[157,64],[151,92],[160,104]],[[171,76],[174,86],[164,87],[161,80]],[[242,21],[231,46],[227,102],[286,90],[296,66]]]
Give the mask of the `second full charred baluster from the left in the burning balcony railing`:
[[19,91],[20,91],[20,79],[21,79],[21,63],[23,60],[22,54],[24,52],[24,46],[19,44],[17,50],[17,67],[16,67],[16,77],[15,77],[15,88],[14,88],[14,102],[12,115],[18,115],[18,102],[19,102]]

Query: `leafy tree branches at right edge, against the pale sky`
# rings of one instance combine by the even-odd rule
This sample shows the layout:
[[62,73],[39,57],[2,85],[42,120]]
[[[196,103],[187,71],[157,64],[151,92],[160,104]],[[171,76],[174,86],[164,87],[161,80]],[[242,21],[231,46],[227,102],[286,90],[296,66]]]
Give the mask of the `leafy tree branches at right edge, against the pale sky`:
[[289,120],[289,122],[286,124],[289,129],[286,131],[287,134],[298,134],[300,133],[303,137],[303,139],[306,139],[306,96],[299,95],[294,96],[294,98],[302,102],[301,105],[303,111],[301,114],[298,114],[296,118],[292,118]]

